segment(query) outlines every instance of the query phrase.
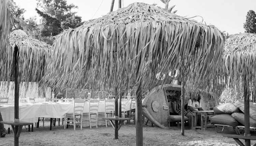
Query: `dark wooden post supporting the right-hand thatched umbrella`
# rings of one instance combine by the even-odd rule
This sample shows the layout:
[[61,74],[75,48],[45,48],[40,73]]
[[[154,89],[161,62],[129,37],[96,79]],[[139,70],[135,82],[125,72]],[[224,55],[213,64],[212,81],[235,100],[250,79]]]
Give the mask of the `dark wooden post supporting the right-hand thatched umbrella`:
[[[250,101],[247,94],[247,81],[245,77],[244,83],[244,136],[251,136],[250,134]],[[251,146],[251,140],[245,140],[245,146]]]

